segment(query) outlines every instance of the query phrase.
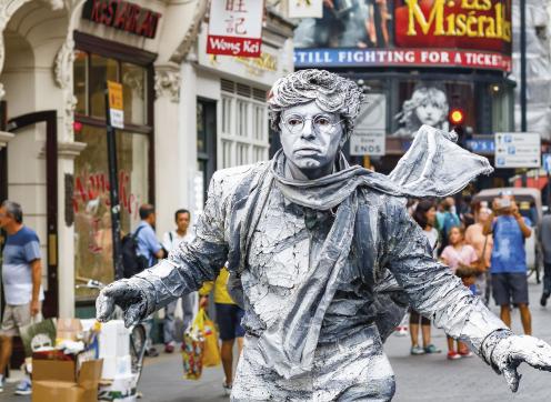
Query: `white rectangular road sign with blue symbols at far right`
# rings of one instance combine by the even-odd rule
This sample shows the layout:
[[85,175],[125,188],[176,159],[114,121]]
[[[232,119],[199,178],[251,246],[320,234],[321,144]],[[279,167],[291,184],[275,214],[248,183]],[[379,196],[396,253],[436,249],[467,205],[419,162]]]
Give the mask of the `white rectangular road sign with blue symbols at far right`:
[[541,139],[533,132],[495,133],[495,168],[539,168]]

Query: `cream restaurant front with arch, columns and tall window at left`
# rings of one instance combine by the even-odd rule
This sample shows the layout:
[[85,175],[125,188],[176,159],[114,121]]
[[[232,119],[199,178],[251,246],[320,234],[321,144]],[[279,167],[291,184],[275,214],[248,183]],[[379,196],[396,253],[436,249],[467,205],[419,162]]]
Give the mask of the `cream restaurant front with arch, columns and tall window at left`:
[[96,293],[76,290],[76,279],[113,279],[106,80],[123,86],[124,130],[116,133],[123,232],[137,225],[140,204],[162,199],[159,177],[180,158],[170,148],[180,125],[178,54],[193,37],[200,7],[144,0],[0,6],[0,195],[22,204],[26,224],[41,239],[46,315],[90,315]]

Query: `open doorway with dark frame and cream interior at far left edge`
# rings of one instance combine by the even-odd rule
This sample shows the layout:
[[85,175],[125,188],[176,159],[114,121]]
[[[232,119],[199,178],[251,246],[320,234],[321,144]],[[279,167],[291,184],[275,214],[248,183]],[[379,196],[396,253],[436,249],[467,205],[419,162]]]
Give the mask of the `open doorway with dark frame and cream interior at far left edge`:
[[[6,112],[6,108],[2,108]],[[0,109],[1,110],[1,109]],[[42,314],[58,315],[58,139],[57,111],[9,119],[14,138],[0,151],[1,199],[23,207],[24,222],[39,235],[42,253]],[[3,304],[3,303],[2,303]]]

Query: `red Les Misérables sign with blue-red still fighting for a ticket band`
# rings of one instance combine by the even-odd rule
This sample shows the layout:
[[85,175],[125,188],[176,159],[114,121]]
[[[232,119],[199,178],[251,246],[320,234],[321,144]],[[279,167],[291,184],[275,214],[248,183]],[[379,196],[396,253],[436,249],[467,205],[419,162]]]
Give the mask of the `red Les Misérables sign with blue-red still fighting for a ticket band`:
[[[395,0],[393,7],[394,18],[387,23],[377,19],[365,22],[371,27],[364,38],[359,37],[357,42],[361,46],[351,47],[350,41],[342,46],[338,40],[317,46],[314,38],[310,41],[313,46],[308,46],[311,49],[298,46],[295,67],[418,66],[511,71],[511,0]],[[391,30],[393,40],[377,40],[383,37],[379,32]],[[332,34],[345,38],[348,32],[344,29],[339,37],[340,32],[333,30]]]

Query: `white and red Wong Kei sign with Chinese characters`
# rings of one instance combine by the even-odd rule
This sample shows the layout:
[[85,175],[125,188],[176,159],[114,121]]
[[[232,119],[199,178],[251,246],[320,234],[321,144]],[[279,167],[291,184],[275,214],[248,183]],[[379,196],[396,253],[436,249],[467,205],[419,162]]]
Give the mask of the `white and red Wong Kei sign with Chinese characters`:
[[259,57],[262,12],[261,0],[212,0],[207,53]]

